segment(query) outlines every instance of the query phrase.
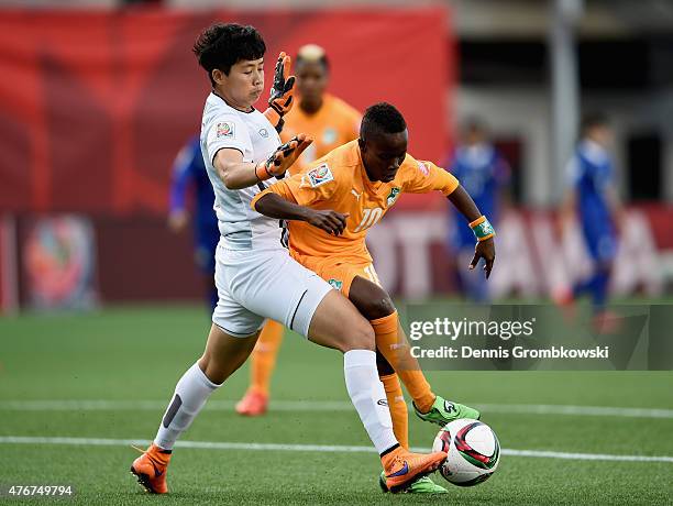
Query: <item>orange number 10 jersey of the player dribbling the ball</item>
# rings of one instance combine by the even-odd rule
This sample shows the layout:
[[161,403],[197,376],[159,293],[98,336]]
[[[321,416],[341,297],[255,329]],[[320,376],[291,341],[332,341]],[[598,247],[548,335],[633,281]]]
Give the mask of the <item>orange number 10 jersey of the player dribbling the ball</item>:
[[331,209],[349,213],[346,228],[334,237],[305,221],[289,221],[289,246],[295,257],[339,257],[343,262],[371,263],[365,244],[367,230],[393,207],[400,194],[427,194],[432,190],[450,195],[457,179],[431,162],[419,162],[407,154],[395,179],[371,182],[362,164],[357,141],[338,147],[316,162],[308,170],[271,186],[283,198],[312,209]]

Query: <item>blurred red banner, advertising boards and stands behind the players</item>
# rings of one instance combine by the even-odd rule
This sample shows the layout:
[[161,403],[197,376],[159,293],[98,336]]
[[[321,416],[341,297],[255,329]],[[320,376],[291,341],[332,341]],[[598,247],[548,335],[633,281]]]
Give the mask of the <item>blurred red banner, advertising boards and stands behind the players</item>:
[[[580,228],[558,218],[581,120],[603,114],[627,209],[610,290],[670,294],[673,2],[4,0],[4,311],[202,296],[191,237],[166,222],[172,167],[208,92],[190,44],[214,20],[260,28],[267,81],[278,51],[320,44],[329,90],[360,111],[398,106],[418,158],[450,168],[478,122],[509,174],[489,299],[548,298],[592,271]],[[402,198],[372,229],[390,292],[465,293],[448,207]]]

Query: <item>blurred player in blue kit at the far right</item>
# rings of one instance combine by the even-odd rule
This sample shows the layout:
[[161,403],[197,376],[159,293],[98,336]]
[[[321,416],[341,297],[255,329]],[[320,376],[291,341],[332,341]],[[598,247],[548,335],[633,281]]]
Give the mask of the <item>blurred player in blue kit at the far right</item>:
[[617,231],[624,215],[607,151],[611,139],[604,114],[591,114],[582,121],[582,139],[566,167],[569,190],[561,213],[564,229],[574,218],[578,221],[594,265],[592,275],[561,294],[558,301],[570,305],[582,295],[591,295],[594,323],[598,328],[610,321],[606,318],[609,316],[606,302],[617,253]]

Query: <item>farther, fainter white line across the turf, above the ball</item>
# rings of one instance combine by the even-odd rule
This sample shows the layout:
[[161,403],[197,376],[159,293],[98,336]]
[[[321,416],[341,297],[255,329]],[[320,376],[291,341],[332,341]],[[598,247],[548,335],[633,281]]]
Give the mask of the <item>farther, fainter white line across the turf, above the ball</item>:
[[[207,409],[229,411],[234,400],[210,400]],[[121,411],[164,410],[167,400],[0,400],[0,411]],[[484,413],[507,415],[569,415],[618,418],[673,419],[673,409],[630,408],[616,406],[572,406],[553,404],[481,404]],[[273,411],[352,411],[347,400],[272,400]]]

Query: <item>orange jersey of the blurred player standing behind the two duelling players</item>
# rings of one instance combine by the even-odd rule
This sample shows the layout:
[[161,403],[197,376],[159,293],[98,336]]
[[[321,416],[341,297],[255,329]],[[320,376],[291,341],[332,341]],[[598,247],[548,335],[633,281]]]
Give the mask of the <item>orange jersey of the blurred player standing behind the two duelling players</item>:
[[290,174],[296,174],[334,147],[357,139],[362,116],[343,100],[324,94],[322,106],[315,114],[307,114],[297,103],[284,119],[285,127],[280,132],[283,142],[289,141],[298,133],[313,138],[313,143],[290,168]]

